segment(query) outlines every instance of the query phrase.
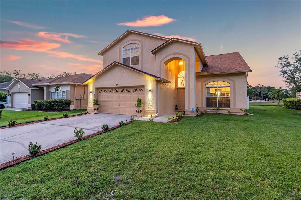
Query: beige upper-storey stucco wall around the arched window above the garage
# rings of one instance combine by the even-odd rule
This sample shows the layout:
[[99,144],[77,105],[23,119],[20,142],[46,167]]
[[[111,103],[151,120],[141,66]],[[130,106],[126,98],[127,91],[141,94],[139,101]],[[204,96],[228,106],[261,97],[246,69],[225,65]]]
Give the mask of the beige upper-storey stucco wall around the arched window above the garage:
[[132,65],[132,67],[156,75],[154,66],[156,56],[151,51],[164,42],[166,40],[130,33],[104,53],[103,66],[106,67],[114,61],[122,63],[122,48],[127,44],[136,43],[139,44],[140,50],[139,65]]

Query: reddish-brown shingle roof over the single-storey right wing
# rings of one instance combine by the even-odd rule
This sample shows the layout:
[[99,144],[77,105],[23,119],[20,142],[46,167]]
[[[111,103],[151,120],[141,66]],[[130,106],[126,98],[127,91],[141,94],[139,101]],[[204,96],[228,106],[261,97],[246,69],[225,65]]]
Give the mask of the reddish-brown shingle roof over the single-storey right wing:
[[200,75],[252,71],[238,52],[206,56],[206,59],[208,65],[203,66]]

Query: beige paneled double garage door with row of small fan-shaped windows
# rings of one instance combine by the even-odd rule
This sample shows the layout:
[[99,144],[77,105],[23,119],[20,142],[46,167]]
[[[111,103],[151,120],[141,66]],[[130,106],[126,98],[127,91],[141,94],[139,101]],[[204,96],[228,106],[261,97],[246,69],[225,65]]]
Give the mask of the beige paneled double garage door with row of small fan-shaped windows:
[[144,86],[100,88],[97,89],[97,98],[100,113],[136,115],[137,98],[144,103]]

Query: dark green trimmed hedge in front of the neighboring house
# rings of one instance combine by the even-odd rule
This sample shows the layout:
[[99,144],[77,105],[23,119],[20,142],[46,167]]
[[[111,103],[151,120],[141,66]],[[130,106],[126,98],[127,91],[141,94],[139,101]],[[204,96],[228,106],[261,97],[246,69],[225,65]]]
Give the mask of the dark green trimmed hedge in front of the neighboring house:
[[35,110],[46,111],[61,111],[67,109],[72,101],[65,98],[54,98],[51,100],[36,100],[34,108]]

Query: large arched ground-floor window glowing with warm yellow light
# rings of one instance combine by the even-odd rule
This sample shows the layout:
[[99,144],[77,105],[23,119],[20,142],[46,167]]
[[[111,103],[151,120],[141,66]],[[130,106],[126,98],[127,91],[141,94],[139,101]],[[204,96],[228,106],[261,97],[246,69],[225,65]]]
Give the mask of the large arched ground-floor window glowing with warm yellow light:
[[213,81],[206,84],[207,108],[230,108],[230,83]]

